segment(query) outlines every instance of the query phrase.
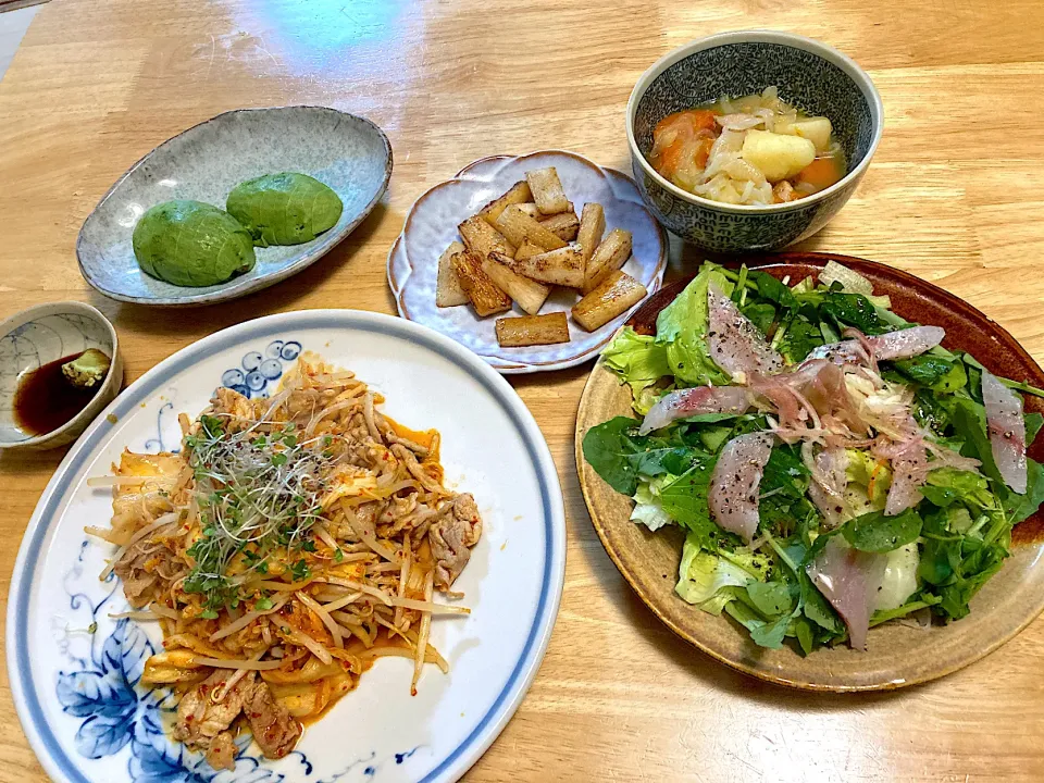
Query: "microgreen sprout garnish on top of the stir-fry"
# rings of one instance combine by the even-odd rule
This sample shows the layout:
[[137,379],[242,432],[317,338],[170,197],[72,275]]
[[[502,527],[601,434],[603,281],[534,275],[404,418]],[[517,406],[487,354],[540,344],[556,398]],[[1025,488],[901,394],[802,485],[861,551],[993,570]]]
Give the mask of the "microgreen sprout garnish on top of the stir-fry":
[[[266,574],[277,551],[288,559],[315,551],[309,531],[322,513],[323,476],[334,464],[323,450],[328,436],[301,439],[293,422],[264,418],[237,418],[233,431],[228,421],[200,417],[197,432],[185,438],[202,527],[188,550],[196,566],[185,591],[203,595],[204,618],[237,606],[244,584]],[[299,556],[290,572],[295,581],[310,575]],[[260,599],[261,606],[271,600]]]

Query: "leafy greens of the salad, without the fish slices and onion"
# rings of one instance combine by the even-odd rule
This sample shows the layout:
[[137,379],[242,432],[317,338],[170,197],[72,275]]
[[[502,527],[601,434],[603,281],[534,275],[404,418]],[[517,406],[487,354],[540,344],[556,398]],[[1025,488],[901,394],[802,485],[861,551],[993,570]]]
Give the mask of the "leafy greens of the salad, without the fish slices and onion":
[[[708,346],[710,285],[731,298],[787,366],[840,341],[849,327],[872,336],[913,325],[890,310],[887,297],[873,296],[869,282],[837,264],[818,283],[809,277],[788,286],[765,272],[708,262],[660,313],[655,335],[624,327],[604,352],[605,364],[631,386],[639,415],[673,389],[735,382]],[[928,612],[958,620],[1008,557],[1012,527],[1044,501],[1044,469],[1028,460],[1024,494],[1005,485],[991,449],[983,366],[970,355],[937,346],[881,361],[877,372],[888,390],[911,395],[909,412],[927,439],[981,463],[978,470],[940,463],[918,487],[922,499],[898,514],[884,512],[888,460],[846,448],[845,512],[831,527],[809,496],[812,473],[801,444],[775,438],[758,487],[756,538],[745,544],[719,526],[708,507],[712,471],[726,443],[773,428],[771,413],[759,409],[689,415],[648,435],[638,434],[639,421],[618,417],[587,432],[584,457],[613,489],[634,499],[635,523],[684,530],[678,595],[712,614],[725,612],[758,645],[778,648],[792,638],[808,654],[849,637],[808,571],[835,538],[845,551],[887,558],[870,626],[919,611],[922,621]],[[1042,417],[1024,419],[1032,444]]]

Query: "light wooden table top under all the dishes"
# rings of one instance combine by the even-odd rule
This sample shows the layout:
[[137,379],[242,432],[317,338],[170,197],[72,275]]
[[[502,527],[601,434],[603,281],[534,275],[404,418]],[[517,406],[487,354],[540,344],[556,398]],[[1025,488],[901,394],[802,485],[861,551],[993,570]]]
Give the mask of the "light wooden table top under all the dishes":
[[[629,170],[624,107],[693,38],[773,27],[828,41],[884,99],[884,140],[805,249],[912,271],[1044,360],[1044,27],[1040,0],[77,0],[51,2],[0,83],[0,316],[80,299],[105,312],[127,380],[256,315],[394,312],[388,247],[413,199],[469,161],[558,147]],[[323,103],[395,148],[384,202],[308,271],[232,304],[156,311],[79,275],[76,233],[126,167],[228,109]],[[671,274],[699,253],[672,252]],[[635,598],[587,518],[573,465],[588,368],[513,380],[550,444],[569,514],[547,658],[473,781],[986,781],[1044,778],[1044,620],[942,682],[813,696],[733,673]],[[61,452],[0,457],[0,595]],[[0,779],[42,780],[0,670]]]

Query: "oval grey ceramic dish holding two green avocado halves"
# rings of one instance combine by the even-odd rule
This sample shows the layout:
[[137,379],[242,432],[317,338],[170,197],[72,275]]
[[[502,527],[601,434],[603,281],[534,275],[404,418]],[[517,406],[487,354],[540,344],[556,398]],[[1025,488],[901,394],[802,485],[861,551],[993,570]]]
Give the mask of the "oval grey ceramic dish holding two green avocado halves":
[[[171,199],[225,208],[228,192],[262,174],[297,172],[340,197],[337,224],[310,243],[256,248],[257,264],[225,283],[200,288],[145,274],[130,237],[141,214]],[[90,285],[113,299],[164,307],[235,299],[313,264],[376,206],[391,176],[391,145],[364,117],[325,107],[239,109],[164,141],[116,181],[79,232],[76,257]]]

